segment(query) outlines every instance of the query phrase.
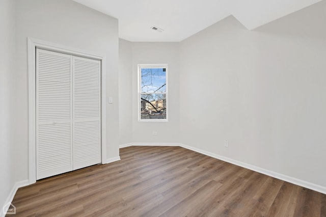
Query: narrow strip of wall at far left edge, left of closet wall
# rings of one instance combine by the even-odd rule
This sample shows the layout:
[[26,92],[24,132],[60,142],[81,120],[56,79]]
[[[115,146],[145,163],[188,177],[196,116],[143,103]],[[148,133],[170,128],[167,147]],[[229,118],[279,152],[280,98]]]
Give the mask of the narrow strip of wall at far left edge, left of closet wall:
[[12,120],[15,116],[15,2],[0,1],[0,216],[14,185]]

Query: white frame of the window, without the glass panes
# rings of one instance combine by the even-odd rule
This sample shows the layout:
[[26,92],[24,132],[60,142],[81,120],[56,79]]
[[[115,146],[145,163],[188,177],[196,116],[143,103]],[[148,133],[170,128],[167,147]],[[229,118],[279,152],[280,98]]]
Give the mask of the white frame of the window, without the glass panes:
[[[142,92],[142,68],[165,68],[166,69],[166,92],[162,92],[162,94],[166,94],[166,119],[141,119],[141,94],[146,92]],[[169,121],[169,99],[168,99],[168,74],[169,67],[168,64],[138,64],[138,121],[139,122],[168,122]],[[147,93],[152,94],[152,93]]]

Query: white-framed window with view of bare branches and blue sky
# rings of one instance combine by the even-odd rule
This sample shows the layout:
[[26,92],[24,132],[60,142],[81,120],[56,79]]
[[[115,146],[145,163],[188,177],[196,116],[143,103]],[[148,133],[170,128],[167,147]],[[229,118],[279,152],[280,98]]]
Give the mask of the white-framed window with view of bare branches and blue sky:
[[138,65],[138,120],[168,121],[168,65]]

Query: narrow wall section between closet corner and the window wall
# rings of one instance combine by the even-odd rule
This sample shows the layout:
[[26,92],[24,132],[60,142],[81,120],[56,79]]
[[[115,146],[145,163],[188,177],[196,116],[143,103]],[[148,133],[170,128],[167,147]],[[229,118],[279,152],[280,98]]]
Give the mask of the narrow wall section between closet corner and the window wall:
[[120,144],[132,142],[131,42],[119,39],[119,136]]

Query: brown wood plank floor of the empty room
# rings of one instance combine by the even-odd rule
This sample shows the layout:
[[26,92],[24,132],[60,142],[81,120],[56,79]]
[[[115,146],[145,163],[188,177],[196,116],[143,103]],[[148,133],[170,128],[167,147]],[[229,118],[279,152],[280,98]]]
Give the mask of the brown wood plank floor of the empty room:
[[326,216],[324,194],[181,147],[120,157],[19,188],[7,216]]

